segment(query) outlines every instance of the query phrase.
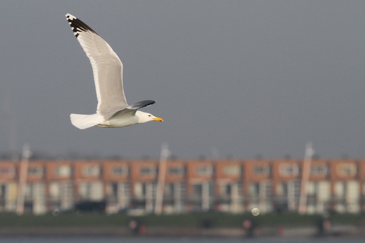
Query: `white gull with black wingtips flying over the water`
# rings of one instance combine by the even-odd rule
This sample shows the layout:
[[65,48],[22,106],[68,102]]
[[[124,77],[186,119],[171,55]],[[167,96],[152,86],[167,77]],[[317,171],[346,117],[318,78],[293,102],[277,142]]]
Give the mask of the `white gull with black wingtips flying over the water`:
[[152,105],[155,101],[146,100],[128,105],[123,90],[123,65],[118,56],[109,44],[84,22],[70,14],[66,15],[66,19],[90,59],[98,100],[95,114],[71,114],[72,124],[80,129],[91,126],[120,128],[153,120],[163,121],[138,110]]

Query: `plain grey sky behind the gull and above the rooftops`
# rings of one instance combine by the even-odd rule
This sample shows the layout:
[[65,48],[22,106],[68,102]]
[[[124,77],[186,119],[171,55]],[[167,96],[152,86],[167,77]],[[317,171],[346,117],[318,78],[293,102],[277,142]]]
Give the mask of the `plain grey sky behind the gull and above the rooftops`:
[[[364,1],[0,1],[0,152],[155,158],[365,157]],[[65,14],[123,62],[128,103],[165,122],[93,114],[91,64]]]

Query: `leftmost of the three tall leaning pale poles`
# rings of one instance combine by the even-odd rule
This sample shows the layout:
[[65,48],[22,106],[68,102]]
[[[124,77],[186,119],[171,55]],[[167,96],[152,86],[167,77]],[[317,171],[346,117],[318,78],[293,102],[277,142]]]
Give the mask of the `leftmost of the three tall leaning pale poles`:
[[28,160],[31,155],[29,144],[23,145],[23,157],[20,162],[18,200],[16,204],[16,213],[22,215],[24,213],[25,187],[27,184]]

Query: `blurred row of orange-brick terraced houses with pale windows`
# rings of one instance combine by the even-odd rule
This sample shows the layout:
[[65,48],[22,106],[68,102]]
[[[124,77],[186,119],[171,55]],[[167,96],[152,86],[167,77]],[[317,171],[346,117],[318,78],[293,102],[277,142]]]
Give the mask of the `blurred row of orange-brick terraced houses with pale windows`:
[[[365,211],[365,159],[168,160],[163,213],[298,211],[306,185],[306,213]],[[0,212],[15,212],[20,161],[0,161]],[[27,164],[24,212],[72,211],[103,202],[108,213],[151,213],[158,160],[35,160]]]

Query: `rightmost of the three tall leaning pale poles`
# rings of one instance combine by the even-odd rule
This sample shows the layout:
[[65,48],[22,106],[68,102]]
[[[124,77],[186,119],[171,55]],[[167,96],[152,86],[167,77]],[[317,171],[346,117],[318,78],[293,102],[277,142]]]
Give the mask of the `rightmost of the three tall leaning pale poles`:
[[312,142],[307,142],[306,152],[304,154],[304,161],[303,161],[303,172],[301,176],[300,197],[299,197],[299,207],[298,207],[298,212],[301,214],[304,214],[307,211],[307,194],[308,194],[307,184],[309,181],[309,176],[311,174],[311,160],[313,154],[314,150],[312,148]]

